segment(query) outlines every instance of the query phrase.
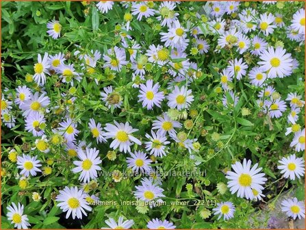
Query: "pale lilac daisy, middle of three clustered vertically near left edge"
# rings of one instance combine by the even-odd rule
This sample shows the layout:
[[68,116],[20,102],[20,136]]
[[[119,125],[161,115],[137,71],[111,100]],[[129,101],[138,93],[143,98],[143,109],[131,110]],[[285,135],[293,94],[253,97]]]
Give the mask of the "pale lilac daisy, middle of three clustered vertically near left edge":
[[32,114],[41,112],[45,107],[50,104],[49,97],[44,97],[45,93],[39,96],[39,93],[30,94],[30,98],[25,101],[22,105],[19,105],[23,110],[23,116],[30,116]]

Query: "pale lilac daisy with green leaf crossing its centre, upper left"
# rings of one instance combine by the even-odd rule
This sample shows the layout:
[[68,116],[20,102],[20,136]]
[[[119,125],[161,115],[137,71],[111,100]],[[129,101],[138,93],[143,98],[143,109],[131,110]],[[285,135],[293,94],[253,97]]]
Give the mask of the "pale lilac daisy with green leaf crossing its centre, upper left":
[[103,68],[109,67],[112,71],[120,72],[121,68],[127,64],[125,58],[124,49],[118,47],[108,49],[107,55],[103,54],[103,60],[105,61]]

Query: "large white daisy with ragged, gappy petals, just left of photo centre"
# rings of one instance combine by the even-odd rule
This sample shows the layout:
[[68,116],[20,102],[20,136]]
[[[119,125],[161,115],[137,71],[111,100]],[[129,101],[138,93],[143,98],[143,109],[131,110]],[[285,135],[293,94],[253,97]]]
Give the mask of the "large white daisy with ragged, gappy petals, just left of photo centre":
[[133,145],[132,142],[141,145],[140,140],[131,135],[131,133],[138,131],[138,129],[133,129],[128,122],[124,124],[117,123],[114,120],[114,123],[115,125],[107,123],[104,128],[106,132],[103,134],[106,139],[114,139],[110,144],[110,148],[117,149],[119,147],[120,152],[124,151],[127,153],[127,151],[131,152],[130,146]]

